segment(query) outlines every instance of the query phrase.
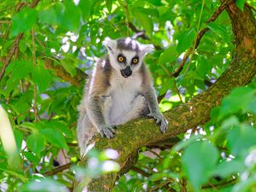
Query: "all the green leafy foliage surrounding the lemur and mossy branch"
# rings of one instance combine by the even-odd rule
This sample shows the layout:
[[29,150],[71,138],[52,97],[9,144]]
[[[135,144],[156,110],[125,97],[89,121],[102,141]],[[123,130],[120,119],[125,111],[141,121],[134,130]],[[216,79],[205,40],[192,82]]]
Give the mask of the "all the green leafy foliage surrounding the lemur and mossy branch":
[[[18,167],[8,164],[8,154],[0,145],[3,191],[19,191],[20,186],[21,191],[57,191],[55,187],[67,191],[73,188],[74,172],[87,177],[104,173],[100,170],[88,176],[91,170],[85,166],[49,176],[58,154],[67,154],[66,161],[78,164],[75,127],[83,82],[71,84],[67,79],[78,79],[78,68],[90,73],[94,58],[106,54],[104,38],[143,32],[137,39],[154,44],[154,54],[147,55],[145,62],[159,95],[166,94],[160,103],[163,111],[207,90],[230,64],[234,37],[227,13],[207,23],[218,9],[218,1],[74,2],[44,0],[35,8],[29,6],[31,0],[0,3],[1,70],[15,39],[24,33],[0,79],[0,103],[9,114],[19,154]],[[240,9],[244,3],[236,1]],[[177,78],[173,77],[184,52],[194,46],[198,32],[205,27],[210,31],[198,48],[192,49]],[[46,67],[47,61],[53,62],[52,67]],[[67,79],[57,73],[60,68]],[[207,191],[214,186],[220,191],[256,191],[255,86],[254,80],[233,90],[219,108],[212,109],[207,125],[180,135],[181,142],[174,148],[157,153],[156,149],[142,148],[136,166],[143,172],[125,174],[114,191]],[[92,157],[101,162],[97,168],[111,158],[95,153]],[[38,186],[38,180],[42,185]]]

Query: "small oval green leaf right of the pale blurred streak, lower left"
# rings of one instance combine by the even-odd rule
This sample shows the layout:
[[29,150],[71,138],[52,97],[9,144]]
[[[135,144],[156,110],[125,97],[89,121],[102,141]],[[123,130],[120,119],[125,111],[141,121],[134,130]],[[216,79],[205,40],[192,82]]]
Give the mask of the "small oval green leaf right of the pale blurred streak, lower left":
[[44,149],[44,138],[38,133],[32,133],[26,138],[27,148],[35,154],[39,154]]

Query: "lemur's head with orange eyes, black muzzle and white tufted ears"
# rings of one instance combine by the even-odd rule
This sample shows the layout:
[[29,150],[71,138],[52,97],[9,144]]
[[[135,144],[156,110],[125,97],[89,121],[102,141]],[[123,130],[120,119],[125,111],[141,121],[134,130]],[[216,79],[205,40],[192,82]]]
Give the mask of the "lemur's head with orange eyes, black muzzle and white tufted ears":
[[142,66],[144,56],[154,50],[153,45],[140,44],[132,38],[105,38],[103,44],[108,49],[111,66],[124,78],[137,72]]

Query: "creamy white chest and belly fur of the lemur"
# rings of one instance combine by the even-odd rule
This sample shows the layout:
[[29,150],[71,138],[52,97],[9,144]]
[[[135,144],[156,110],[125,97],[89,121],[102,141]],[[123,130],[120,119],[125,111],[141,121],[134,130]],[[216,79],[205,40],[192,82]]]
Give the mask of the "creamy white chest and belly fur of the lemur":
[[130,113],[135,98],[141,94],[142,79],[139,74],[133,74],[128,78],[115,76],[110,81],[111,104],[108,110],[110,124],[123,123],[125,115]]

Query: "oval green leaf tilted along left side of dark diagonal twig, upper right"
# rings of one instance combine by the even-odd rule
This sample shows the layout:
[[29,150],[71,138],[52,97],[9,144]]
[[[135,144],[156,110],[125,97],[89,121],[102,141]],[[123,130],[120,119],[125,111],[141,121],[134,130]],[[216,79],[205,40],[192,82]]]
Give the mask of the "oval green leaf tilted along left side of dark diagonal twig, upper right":
[[181,34],[180,37],[177,39],[177,52],[183,53],[186,49],[192,46],[195,35],[195,28],[192,28],[189,32]]

